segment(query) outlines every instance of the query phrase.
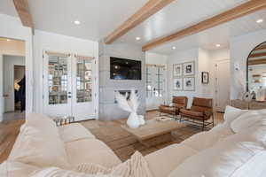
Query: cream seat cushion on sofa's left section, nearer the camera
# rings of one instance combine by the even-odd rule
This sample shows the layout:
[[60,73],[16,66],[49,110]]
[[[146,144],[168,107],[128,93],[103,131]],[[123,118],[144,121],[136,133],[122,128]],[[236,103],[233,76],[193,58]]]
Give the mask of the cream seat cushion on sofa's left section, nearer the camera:
[[95,163],[105,167],[113,167],[121,164],[121,160],[97,139],[82,139],[75,142],[66,142],[68,161],[72,166],[83,163]]

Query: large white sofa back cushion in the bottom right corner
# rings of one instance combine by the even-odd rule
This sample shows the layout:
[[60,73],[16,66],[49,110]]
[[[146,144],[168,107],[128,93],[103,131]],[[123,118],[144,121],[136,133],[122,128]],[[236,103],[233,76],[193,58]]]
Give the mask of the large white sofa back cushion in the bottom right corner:
[[[250,160],[253,160],[254,164],[263,163],[262,159],[258,157],[265,152],[265,149],[257,142],[218,142],[215,146],[187,158],[183,164],[176,167],[169,177],[236,176],[234,173],[237,173],[239,168],[246,166]],[[257,170],[262,171],[263,167]]]

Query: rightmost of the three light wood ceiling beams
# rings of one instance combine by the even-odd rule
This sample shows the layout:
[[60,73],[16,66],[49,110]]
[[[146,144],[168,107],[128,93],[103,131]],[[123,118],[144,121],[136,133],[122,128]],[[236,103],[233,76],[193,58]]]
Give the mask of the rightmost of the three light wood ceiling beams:
[[181,31],[177,31],[176,33],[173,33],[171,35],[167,35],[164,37],[161,37],[159,39],[154,40],[153,42],[148,42],[143,46],[143,51],[152,50],[153,48],[167,43],[176,41],[178,39],[184,38],[188,35],[194,35],[201,31],[204,31],[208,28],[215,27],[218,25],[221,25],[225,22],[231,21],[232,19],[238,19],[240,17],[243,17],[247,14],[257,12],[259,10],[266,8],[266,1],[265,0],[250,0],[247,3],[240,4],[239,6],[232,8],[229,11],[220,13],[216,15],[215,17],[212,17],[210,19],[206,19],[204,21],[200,21],[200,23],[193,25],[191,27],[187,27]]

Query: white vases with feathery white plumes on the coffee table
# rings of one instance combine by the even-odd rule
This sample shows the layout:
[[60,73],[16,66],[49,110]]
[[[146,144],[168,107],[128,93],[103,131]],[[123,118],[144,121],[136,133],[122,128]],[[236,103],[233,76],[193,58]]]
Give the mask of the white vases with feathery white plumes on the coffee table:
[[144,116],[137,115],[139,101],[135,89],[131,89],[129,100],[127,97],[128,93],[126,93],[125,96],[121,95],[119,92],[116,92],[115,94],[115,99],[119,107],[126,112],[130,112],[129,119],[127,120],[128,126],[131,128],[137,128],[140,125],[144,125]]

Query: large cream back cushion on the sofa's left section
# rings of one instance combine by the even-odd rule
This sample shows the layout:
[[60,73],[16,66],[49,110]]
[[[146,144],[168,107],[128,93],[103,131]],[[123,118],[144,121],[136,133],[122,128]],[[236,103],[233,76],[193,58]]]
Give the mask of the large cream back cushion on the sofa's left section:
[[69,167],[65,144],[55,123],[49,117],[35,113],[30,114],[20,128],[9,160],[39,167]]

